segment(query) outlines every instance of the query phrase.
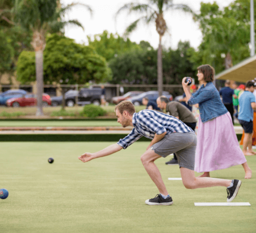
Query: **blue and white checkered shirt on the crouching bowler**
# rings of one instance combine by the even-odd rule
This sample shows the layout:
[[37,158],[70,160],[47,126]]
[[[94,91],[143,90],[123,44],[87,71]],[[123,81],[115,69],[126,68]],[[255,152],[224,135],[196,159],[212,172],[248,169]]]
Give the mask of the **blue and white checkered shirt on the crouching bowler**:
[[164,132],[167,132],[167,134],[172,132],[194,132],[176,117],[153,110],[142,110],[134,113],[133,125],[132,132],[117,143],[124,149],[142,136],[153,139],[155,134],[159,135]]

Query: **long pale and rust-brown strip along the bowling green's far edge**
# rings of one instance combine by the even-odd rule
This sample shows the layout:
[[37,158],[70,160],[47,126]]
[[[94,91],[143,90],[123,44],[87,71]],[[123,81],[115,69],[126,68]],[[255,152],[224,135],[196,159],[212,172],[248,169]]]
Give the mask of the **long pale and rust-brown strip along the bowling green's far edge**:
[[[0,127],[0,134],[128,134],[133,127]],[[234,126],[242,134],[241,126]]]

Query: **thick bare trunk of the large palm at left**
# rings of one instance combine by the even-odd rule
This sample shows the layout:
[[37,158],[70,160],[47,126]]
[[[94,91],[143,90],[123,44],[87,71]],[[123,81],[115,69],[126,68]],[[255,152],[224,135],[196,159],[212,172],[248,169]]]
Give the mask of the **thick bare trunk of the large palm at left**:
[[36,84],[37,84],[37,112],[36,116],[43,116],[43,88],[44,88],[44,52],[43,50],[35,51],[35,62],[36,62]]

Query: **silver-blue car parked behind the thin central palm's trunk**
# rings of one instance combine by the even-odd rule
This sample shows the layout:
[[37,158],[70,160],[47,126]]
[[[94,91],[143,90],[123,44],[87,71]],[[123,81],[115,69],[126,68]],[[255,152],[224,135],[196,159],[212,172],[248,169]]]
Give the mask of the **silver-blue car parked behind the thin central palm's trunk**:
[[[163,91],[162,95],[165,95],[170,101],[173,100],[173,95],[170,95],[170,93],[168,91]],[[127,99],[128,101],[131,101],[134,106],[139,106],[142,105],[142,99],[147,97],[149,99],[149,101],[155,101],[158,98],[158,91],[156,90],[150,90],[150,91],[146,91],[140,95],[134,96],[132,98]]]

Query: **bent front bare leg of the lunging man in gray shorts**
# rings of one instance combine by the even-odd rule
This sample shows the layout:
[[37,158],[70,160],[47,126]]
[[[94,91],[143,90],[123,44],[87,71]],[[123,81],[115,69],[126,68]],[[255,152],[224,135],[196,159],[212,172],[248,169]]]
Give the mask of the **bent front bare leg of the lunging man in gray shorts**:
[[156,159],[161,158],[160,155],[156,154],[153,150],[148,149],[141,157],[141,162],[146,169],[147,173],[149,174],[151,180],[155,183],[156,187],[158,188],[159,192],[165,196],[168,195],[167,189],[164,185],[162,180],[161,174],[159,169],[157,168],[154,161]]

